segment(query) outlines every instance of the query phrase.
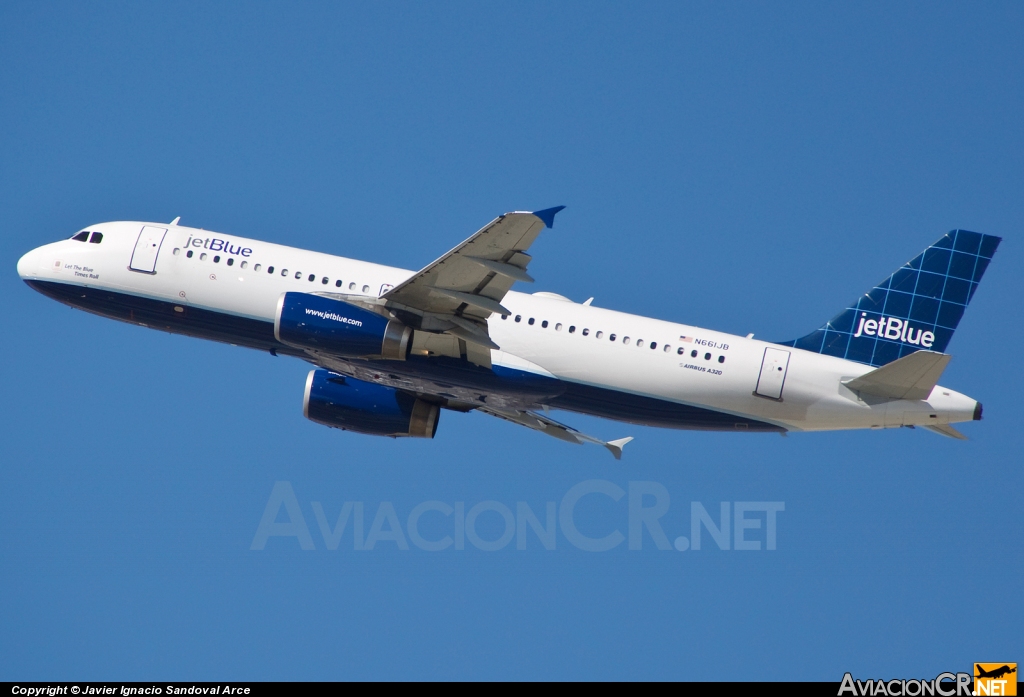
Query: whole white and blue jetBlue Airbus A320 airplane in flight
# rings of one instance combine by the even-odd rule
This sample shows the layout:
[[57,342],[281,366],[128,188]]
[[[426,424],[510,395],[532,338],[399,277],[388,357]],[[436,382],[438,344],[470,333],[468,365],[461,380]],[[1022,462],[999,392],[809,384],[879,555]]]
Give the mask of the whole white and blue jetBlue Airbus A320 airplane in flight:
[[981,404],[938,385],[1000,238],[942,235],[807,336],[769,342],[596,307],[531,282],[527,250],[562,206],[499,216],[419,271],[179,224],[106,222],[17,272],[75,308],[301,358],[304,416],[433,438],[442,409],[490,415],[615,459],[552,409],[631,424],[786,433],[952,425]]

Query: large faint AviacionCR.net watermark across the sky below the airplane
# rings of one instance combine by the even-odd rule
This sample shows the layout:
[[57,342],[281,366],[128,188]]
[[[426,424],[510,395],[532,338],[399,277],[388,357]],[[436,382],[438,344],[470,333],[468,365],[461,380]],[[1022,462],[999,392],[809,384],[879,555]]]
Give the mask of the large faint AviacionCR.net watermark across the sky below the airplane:
[[[613,504],[612,515],[600,521],[600,533],[594,532],[593,523],[589,527],[579,524],[578,505],[590,496]],[[604,479],[589,479],[569,488],[560,502],[543,505],[425,500],[406,510],[387,500],[346,500],[333,510],[313,500],[304,508],[291,482],[279,481],[270,491],[250,549],[264,550],[271,537],[291,537],[302,550],[323,544],[327,550],[348,548],[356,552],[413,548],[442,552],[466,550],[468,542],[482,552],[510,548],[551,551],[561,538],[563,544],[568,542],[585,552],[607,552],[624,543],[628,550],[642,550],[645,542],[648,549],[698,552],[705,549],[707,535],[719,550],[774,551],[778,547],[778,514],[785,511],[785,503],[725,500],[706,507],[691,500],[689,525],[677,523],[677,529],[663,520],[670,508],[669,490],[651,481],[632,481],[623,488]],[[586,527],[586,533],[581,527]]]

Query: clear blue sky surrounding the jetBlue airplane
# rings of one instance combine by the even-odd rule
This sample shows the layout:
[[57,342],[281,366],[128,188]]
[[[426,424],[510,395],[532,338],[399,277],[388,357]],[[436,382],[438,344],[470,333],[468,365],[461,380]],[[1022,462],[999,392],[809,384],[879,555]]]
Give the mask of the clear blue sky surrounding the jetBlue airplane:
[[[1022,36],[1013,3],[3,3],[0,677],[838,681],[1020,660]],[[557,415],[635,436],[621,463],[480,415],[375,439],[302,418],[304,363],[72,310],[14,272],[90,223],[179,215],[415,269],[556,205],[524,290],[774,340],[949,229],[1004,236],[943,377],[984,421],[962,443]],[[559,532],[553,551],[331,551],[311,506],[362,502],[368,527],[382,502],[543,518],[589,480],[664,486],[670,538],[691,502],[784,502],[777,550],[594,553]],[[313,551],[250,549],[276,481]],[[626,502],[585,498],[581,530],[626,533]]]

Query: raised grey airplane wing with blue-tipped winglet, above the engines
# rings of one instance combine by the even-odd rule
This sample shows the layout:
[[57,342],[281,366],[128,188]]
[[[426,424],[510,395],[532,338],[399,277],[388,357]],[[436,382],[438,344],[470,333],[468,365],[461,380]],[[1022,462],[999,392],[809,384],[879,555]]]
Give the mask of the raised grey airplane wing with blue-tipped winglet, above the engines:
[[[446,332],[465,341],[497,349],[487,336],[487,317],[508,314],[501,301],[526,273],[529,248],[555,214],[565,208],[534,213],[506,213],[466,242],[383,296],[387,307],[407,315],[426,332]],[[412,314],[410,318],[408,315]]]

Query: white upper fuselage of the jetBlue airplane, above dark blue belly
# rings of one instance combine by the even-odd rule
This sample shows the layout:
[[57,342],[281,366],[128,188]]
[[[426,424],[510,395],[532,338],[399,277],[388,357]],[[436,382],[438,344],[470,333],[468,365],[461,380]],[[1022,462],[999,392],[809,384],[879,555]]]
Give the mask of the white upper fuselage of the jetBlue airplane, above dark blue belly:
[[[153,273],[129,268],[142,225],[167,229]],[[177,225],[115,222],[86,229],[102,232],[102,242],[45,245],[22,258],[18,273],[30,282],[101,289],[173,303],[180,311],[195,307],[263,322],[273,322],[285,292],[376,298],[413,275],[406,269]],[[225,253],[225,245],[231,254]],[[552,294],[510,292],[502,304],[511,315],[489,319],[490,337],[501,347],[492,351],[495,365],[785,430],[950,424],[971,421],[977,407],[974,399],[944,387],[936,387],[925,400],[865,401],[842,381],[868,373],[869,365]],[[766,349],[788,354],[778,369],[779,398],[756,393],[759,380],[766,380]]]

